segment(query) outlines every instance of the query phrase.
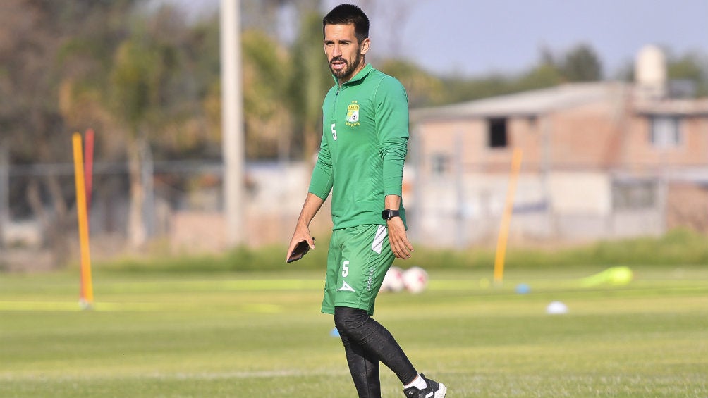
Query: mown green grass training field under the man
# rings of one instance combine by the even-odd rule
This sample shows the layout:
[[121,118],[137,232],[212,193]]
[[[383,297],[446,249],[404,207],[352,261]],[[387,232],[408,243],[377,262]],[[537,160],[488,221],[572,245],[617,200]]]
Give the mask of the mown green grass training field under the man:
[[[404,265],[404,264],[399,264]],[[708,397],[708,268],[430,272],[376,319],[448,397]],[[515,292],[527,283],[527,294]],[[322,273],[0,274],[0,397],[354,397]],[[559,300],[569,312],[547,315]],[[384,397],[403,397],[382,367]]]

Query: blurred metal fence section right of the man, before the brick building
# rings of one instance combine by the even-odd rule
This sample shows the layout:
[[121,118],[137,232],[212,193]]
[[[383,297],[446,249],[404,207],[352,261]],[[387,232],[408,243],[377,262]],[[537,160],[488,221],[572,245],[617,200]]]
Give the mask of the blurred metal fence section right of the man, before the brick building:
[[[494,245],[511,175],[464,165],[418,165],[409,227],[428,245]],[[423,170],[422,172],[420,170]],[[521,245],[661,235],[672,228],[708,233],[708,170],[520,172],[509,239]]]

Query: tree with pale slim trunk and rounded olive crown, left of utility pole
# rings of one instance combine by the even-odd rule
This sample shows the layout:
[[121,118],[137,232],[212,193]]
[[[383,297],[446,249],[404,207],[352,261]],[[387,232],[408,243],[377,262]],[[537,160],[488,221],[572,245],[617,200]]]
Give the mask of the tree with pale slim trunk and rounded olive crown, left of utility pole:
[[110,74],[113,112],[127,133],[130,180],[128,242],[138,248],[147,241],[143,219],[146,197],[145,162],[152,156],[151,131],[160,131],[179,107],[176,78],[181,66],[178,43],[185,23],[175,8],[162,7],[152,19],[138,20],[132,35],[118,46]]

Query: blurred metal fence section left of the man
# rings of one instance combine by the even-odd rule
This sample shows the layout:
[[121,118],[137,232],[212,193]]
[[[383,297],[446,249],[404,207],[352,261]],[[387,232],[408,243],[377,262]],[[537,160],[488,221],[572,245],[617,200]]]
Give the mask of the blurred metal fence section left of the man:
[[[241,204],[245,245],[285,245],[290,239],[307,194],[309,168],[306,163],[246,164],[246,198]],[[113,256],[155,246],[170,252],[227,250],[222,173],[220,161],[146,162],[141,172],[141,227],[146,241],[135,248],[129,244],[127,165],[96,163],[89,205],[92,255]],[[52,192],[51,187],[58,188]],[[57,198],[63,203],[57,204]],[[0,161],[0,267],[11,262],[15,253],[49,249],[52,237],[47,226],[52,223],[59,224],[75,252],[73,165],[10,165],[4,156]],[[328,223],[327,216],[320,216],[313,228],[330,228]]]

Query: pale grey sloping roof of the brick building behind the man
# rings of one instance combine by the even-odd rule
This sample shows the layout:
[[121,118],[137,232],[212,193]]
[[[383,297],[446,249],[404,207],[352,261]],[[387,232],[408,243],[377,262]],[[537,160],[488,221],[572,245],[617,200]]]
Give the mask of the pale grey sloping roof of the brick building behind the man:
[[466,103],[419,108],[411,110],[411,120],[542,115],[586,103],[616,100],[624,86],[617,82],[568,83]]

